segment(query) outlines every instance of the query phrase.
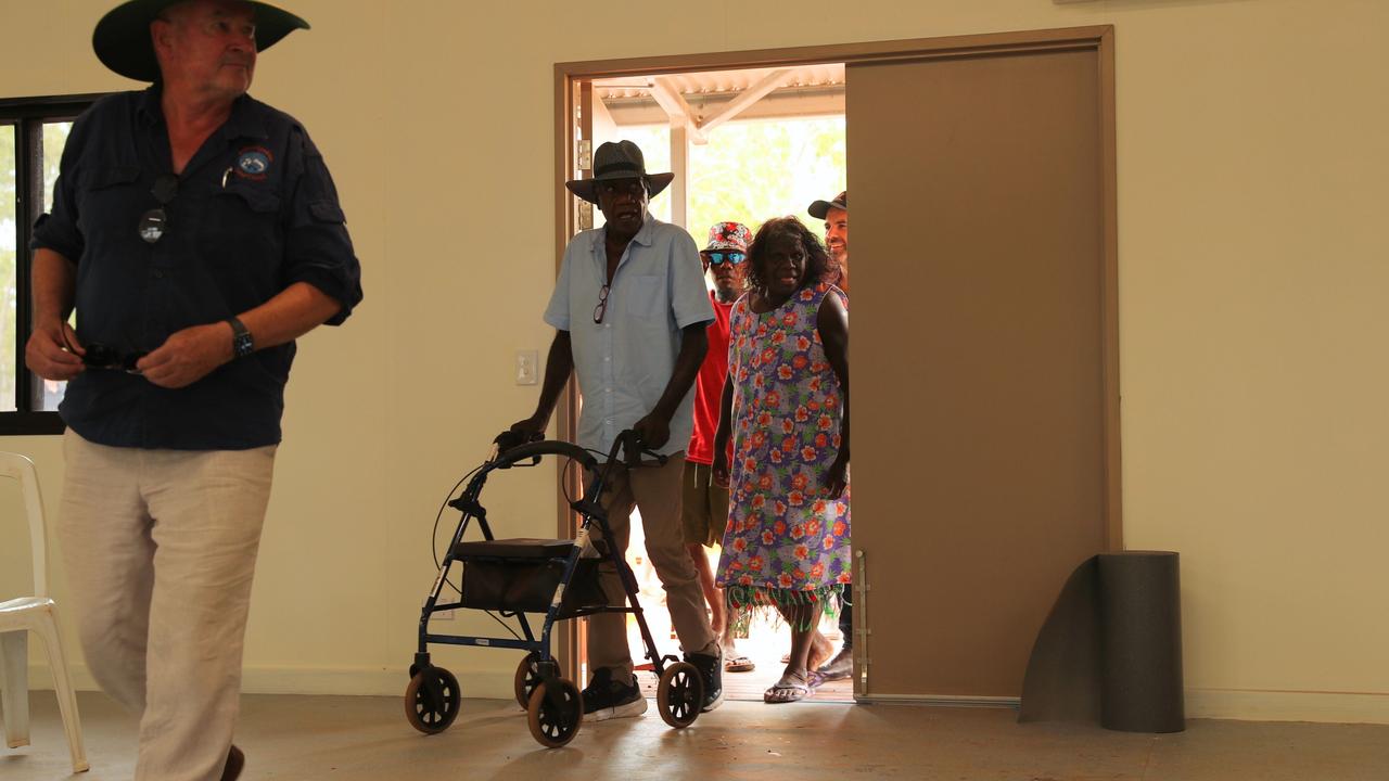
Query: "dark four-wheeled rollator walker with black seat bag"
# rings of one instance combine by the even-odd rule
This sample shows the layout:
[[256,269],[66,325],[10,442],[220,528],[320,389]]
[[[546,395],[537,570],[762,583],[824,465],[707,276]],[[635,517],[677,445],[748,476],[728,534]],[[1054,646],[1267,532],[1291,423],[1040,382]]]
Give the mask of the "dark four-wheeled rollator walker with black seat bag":
[[[622,456],[621,459],[618,456]],[[406,718],[425,734],[449,728],[458,717],[461,692],[458,680],[429,660],[429,645],[471,645],[504,648],[526,652],[515,674],[515,699],[526,710],[531,735],[549,748],[563,746],[574,739],[583,723],[583,699],[579,687],[560,675],[560,666],[550,653],[550,632],[564,618],[581,618],[597,613],[631,613],[642,630],[646,659],[660,677],[656,689],[657,710],[667,724],[679,730],[699,717],[704,702],[704,681],[699,670],[675,656],[661,656],[651,638],[638,600],[638,582],[615,546],[610,545],[613,529],[607,510],[601,506],[603,486],[610,484],[615,470],[642,468],[642,456],[651,456],[664,464],[665,456],[644,450],[635,431],[624,431],[613,443],[606,463],[578,445],[556,441],[519,443],[519,435],[503,432],[494,441],[492,456],[467,481],[463,493],[447,502],[463,513],[453,538],[439,564],[424,609],[419,614],[419,648],[410,666],[410,685],[406,688]],[[560,456],[582,466],[588,484],[582,499],[569,506],[579,514],[576,539],[496,539],[488,523],[488,510],[479,502],[482,486],[497,470],[536,466],[542,457]],[[529,463],[522,463],[529,461]],[[460,481],[461,482],[461,481]],[[464,541],[472,521],[482,539]],[[600,557],[585,557],[589,534],[597,524],[601,539],[593,541]],[[603,592],[599,563],[607,560],[622,581],[622,599],[613,603]],[[440,602],[444,586],[456,588],[449,579],[450,570],[463,567],[463,588],[457,602]],[[429,618],[444,610],[483,610],[511,632],[510,638],[446,635],[429,631]],[[528,614],[544,614],[539,636]],[[521,630],[511,630],[513,621]]]

